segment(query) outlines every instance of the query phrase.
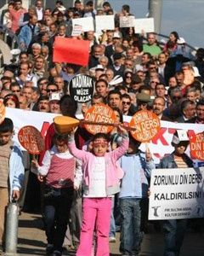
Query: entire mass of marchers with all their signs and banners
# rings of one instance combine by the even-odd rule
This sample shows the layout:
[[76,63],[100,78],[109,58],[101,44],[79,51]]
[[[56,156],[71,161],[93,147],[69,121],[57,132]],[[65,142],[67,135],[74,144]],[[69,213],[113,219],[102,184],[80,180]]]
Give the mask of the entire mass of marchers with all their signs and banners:
[[125,3],[65,2],[1,9],[0,254],[14,203],[45,255],[142,255],[153,225],[178,256],[204,225],[204,48]]

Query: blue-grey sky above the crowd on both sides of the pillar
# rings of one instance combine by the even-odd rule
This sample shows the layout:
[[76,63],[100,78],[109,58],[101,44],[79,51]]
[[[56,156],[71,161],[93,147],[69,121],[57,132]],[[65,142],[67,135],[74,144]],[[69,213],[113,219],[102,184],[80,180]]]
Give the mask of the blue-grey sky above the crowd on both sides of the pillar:
[[[148,0],[109,0],[116,11],[123,4],[130,5],[136,18],[148,13]],[[163,0],[161,34],[177,31],[178,35],[194,47],[204,48],[204,0]]]

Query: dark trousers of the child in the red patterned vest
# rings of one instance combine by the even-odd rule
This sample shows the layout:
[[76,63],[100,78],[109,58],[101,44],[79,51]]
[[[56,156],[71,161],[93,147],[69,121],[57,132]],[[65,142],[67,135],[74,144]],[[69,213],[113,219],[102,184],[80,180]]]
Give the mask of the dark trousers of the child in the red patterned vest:
[[44,196],[44,224],[48,243],[62,251],[62,244],[70,216],[73,189],[47,189]]

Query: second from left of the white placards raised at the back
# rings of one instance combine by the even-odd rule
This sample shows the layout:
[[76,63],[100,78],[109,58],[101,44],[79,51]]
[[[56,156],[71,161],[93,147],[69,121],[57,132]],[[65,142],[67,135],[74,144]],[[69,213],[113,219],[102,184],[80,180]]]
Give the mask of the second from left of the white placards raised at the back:
[[96,15],[95,26],[96,26],[97,32],[101,30],[114,30],[115,29],[114,15]]

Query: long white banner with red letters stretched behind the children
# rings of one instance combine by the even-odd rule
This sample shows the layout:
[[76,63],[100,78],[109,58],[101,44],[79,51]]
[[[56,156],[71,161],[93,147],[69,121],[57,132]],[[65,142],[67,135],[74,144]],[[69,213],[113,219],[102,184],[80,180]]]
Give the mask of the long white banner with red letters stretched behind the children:
[[[42,113],[36,111],[28,111],[16,108],[6,108],[6,116],[14,121],[15,133],[18,133],[21,127],[25,125],[33,125],[37,130],[42,132],[42,136],[45,136],[49,124],[53,123],[54,113]],[[78,119],[82,119],[82,115],[77,115]],[[125,122],[129,122],[132,119],[131,116],[123,116]],[[176,130],[185,130],[189,134],[197,134],[204,131],[204,125],[198,124],[179,124],[167,121],[161,121],[161,129],[156,135],[156,137],[149,143],[151,154],[153,154],[153,159],[156,164],[159,163],[160,159],[166,154],[173,152],[173,147],[171,145],[173,133]],[[141,150],[145,151],[145,144],[140,147]],[[186,152],[189,153],[189,148]],[[204,163],[196,161],[195,166],[204,166]]]

